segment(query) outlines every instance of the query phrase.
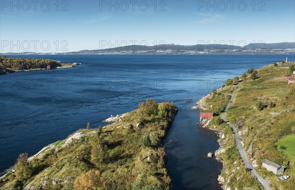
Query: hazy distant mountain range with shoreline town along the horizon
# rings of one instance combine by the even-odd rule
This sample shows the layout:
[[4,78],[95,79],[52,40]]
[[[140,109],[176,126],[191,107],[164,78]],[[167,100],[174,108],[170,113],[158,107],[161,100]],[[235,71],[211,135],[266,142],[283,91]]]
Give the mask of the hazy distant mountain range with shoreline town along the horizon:
[[[291,49],[291,50],[290,50]],[[156,46],[123,46],[101,50],[81,50],[78,52],[54,54],[286,54],[295,52],[295,42],[256,43],[246,46],[225,44],[175,45],[165,44]],[[5,53],[5,54],[44,54],[44,53]],[[46,53],[53,54],[53,53]]]

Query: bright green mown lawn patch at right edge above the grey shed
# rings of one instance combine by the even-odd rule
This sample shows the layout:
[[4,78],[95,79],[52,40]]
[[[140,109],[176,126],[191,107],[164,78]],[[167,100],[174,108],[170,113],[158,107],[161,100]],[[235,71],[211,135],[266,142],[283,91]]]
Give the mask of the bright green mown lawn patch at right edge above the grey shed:
[[295,135],[285,136],[275,143],[278,151],[282,151],[290,157],[295,158]]

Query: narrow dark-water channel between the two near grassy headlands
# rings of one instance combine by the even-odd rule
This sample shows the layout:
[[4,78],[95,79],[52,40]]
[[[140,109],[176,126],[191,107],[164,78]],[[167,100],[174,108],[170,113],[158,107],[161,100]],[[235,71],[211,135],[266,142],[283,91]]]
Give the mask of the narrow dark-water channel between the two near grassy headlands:
[[221,190],[217,178],[222,163],[207,158],[219,148],[214,131],[200,128],[199,110],[190,109],[193,101],[176,102],[178,113],[165,139],[167,168],[173,190]]

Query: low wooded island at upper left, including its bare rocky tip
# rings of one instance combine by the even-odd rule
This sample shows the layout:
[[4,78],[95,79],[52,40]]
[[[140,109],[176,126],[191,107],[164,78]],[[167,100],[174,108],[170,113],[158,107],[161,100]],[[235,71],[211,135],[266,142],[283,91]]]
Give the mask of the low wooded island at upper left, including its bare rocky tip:
[[71,68],[81,63],[60,63],[60,61],[43,58],[11,58],[0,55],[0,75],[18,71],[49,70],[54,68]]

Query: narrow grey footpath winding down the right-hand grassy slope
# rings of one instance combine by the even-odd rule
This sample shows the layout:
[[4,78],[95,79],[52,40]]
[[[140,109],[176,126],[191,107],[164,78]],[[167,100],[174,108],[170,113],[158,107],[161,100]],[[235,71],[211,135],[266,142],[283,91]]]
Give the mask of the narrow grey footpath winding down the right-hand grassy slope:
[[261,183],[261,185],[263,186],[263,188],[265,190],[271,190],[271,188],[268,186],[266,180],[261,177],[255,170],[255,168],[251,165],[251,163],[249,162],[248,158],[247,158],[247,155],[246,155],[246,152],[245,150],[243,149],[242,147],[242,143],[241,143],[241,139],[239,138],[238,136],[238,133],[236,131],[236,127],[234,125],[232,125],[229,121],[227,121],[225,119],[225,113],[226,113],[226,110],[228,108],[230,108],[233,100],[234,100],[234,97],[235,97],[235,93],[236,91],[238,91],[240,88],[239,86],[237,87],[237,89],[232,93],[232,97],[231,97],[231,100],[230,102],[228,103],[228,105],[226,106],[224,112],[221,113],[221,118],[232,128],[233,130],[233,133],[235,135],[235,138],[236,138],[236,146],[237,146],[237,149],[238,149],[238,152],[240,153],[241,155],[241,158],[243,160],[243,162],[245,163],[246,167],[248,168],[248,170],[252,173],[252,175],[254,175],[254,177]]

